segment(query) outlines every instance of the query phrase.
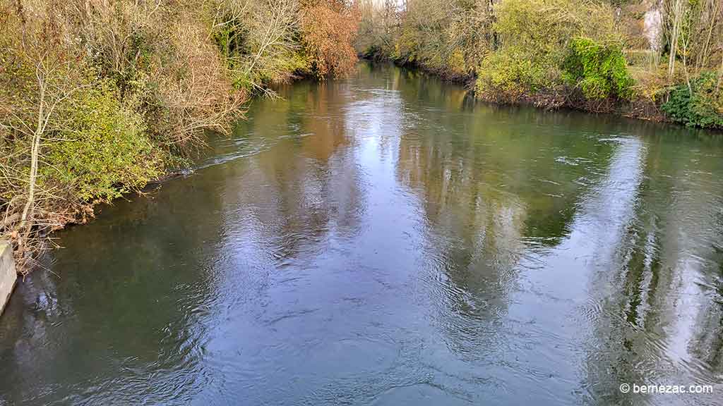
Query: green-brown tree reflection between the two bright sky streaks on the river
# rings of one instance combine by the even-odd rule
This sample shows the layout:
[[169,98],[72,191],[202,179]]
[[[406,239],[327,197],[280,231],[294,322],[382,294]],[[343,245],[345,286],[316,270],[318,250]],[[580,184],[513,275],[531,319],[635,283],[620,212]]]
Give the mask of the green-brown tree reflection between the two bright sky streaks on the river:
[[[448,91],[429,87],[419,94],[414,82],[401,80],[399,87],[408,103],[450,100]],[[526,248],[559,243],[581,196],[604,174],[614,144],[579,134],[576,120],[525,109],[470,109],[463,98],[410,118],[397,178],[419,196],[429,223],[427,256],[449,278],[432,300],[449,302],[440,324],[456,351],[484,357],[474,348],[495,340],[499,328],[489,323],[506,313]]]

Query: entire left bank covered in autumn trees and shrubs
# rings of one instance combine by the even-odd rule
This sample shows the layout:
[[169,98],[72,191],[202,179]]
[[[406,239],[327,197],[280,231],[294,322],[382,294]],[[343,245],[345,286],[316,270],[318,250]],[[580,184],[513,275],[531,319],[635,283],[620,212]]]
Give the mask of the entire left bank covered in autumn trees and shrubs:
[[335,0],[0,0],[0,238],[18,268],[186,168],[270,86],[348,74],[356,20]]

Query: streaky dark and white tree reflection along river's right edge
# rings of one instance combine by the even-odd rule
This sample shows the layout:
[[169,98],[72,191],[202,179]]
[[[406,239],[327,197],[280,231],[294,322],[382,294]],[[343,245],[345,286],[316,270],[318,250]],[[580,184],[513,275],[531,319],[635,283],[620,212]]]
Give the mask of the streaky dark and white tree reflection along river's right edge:
[[690,139],[670,142],[654,127],[636,128],[647,142],[644,177],[607,269],[591,279],[600,308],[591,321],[587,381],[611,402],[699,404],[714,398],[624,396],[618,386],[705,384],[722,370],[715,291],[723,189],[710,176],[721,170],[719,147],[701,153]]

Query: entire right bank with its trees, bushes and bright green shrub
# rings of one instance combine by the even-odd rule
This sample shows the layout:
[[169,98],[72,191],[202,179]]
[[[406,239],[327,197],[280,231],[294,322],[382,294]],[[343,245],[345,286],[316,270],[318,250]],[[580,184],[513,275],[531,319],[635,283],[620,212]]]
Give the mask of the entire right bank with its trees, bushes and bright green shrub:
[[492,103],[723,129],[723,4],[669,3],[369,2],[356,46]]

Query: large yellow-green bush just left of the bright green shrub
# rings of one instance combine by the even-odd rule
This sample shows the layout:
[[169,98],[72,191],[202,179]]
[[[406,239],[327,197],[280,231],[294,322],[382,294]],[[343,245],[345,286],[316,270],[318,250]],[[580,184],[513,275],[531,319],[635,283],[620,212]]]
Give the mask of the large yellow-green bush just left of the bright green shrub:
[[612,38],[612,10],[573,0],[505,0],[495,7],[497,50],[477,69],[483,98],[515,101],[539,92],[557,92],[570,38],[589,32]]

